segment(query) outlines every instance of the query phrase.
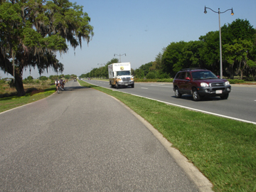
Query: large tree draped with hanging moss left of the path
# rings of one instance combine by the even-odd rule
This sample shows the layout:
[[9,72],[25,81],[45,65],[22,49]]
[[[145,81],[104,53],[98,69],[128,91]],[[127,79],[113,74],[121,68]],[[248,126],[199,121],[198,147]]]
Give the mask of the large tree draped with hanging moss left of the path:
[[0,68],[14,75],[18,96],[25,95],[24,69],[63,71],[55,53],[90,42],[93,27],[82,8],[68,0],[0,0]]

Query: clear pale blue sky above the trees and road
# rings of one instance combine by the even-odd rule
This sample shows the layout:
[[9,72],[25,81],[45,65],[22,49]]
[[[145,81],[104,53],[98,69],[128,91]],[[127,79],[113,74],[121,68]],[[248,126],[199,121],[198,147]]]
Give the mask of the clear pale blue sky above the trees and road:
[[[220,25],[232,23],[235,19],[247,19],[256,28],[255,0],[70,0],[84,6],[83,11],[91,18],[95,36],[87,46],[57,54],[64,64],[63,74],[81,75],[99,68],[114,54],[122,55],[122,62],[130,62],[132,68],[154,61],[163,48],[171,42],[197,41],[209,31],[218,31],[218,14],[210,11],[231,11],[220,14]],[[209,7],[204,14],[204,6]],[[23,72],[23,78],[29,74]],[[37,70],[31,70],[38,78]],[[55,75],[53,70],[42,75]],[[12,78],[0,71],[0,77]]]

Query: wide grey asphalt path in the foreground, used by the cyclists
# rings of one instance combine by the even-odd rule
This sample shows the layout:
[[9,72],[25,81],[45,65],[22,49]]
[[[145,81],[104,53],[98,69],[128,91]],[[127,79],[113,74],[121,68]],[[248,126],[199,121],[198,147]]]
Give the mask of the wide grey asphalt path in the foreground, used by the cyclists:
[[0,122],[0,191],[202,187],[121,102],[78,82],[68,82],[60,94],[2,112]]

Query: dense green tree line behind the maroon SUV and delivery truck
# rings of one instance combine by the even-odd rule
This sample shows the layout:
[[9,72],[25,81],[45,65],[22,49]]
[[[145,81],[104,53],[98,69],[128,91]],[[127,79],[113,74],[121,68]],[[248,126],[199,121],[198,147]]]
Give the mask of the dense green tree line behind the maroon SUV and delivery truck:
[[[255,79],[256,75],[256,29],[250,22],[236,19],[221,28],[223,52],[223,77]],[[94,68],[81,78],[107,77],[107,65],[118,63],[112,59],[104,67]],[[220,75],[219,31],[210,31],[198,41],[172,42],[154,61],[132,70],[135,78],[174,78],[182,68],[206,68]]]

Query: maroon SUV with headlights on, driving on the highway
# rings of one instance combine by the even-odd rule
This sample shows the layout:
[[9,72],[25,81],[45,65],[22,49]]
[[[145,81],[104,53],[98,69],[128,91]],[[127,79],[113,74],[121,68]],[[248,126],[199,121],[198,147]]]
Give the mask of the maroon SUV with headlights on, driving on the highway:
[[179,71],[174,78],[174,92],[177,98],[181,95],[192,95],[193,100],[201,100],[201,97],[220,96],[228,99],[231,86],[228,80],[220,79],[210,70],[189,68]]

